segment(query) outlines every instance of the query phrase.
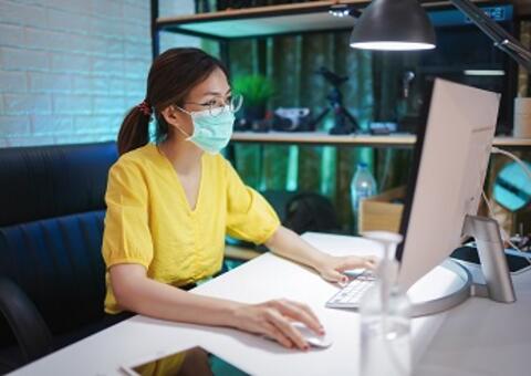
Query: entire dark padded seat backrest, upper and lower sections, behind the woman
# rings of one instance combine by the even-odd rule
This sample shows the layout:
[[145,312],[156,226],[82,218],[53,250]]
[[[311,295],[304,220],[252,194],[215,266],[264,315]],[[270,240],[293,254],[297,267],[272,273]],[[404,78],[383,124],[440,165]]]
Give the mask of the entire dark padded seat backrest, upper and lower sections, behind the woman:
[[116,159],[115,143],[0,149],[0,275],[54,334],[103,315],[104,195]]

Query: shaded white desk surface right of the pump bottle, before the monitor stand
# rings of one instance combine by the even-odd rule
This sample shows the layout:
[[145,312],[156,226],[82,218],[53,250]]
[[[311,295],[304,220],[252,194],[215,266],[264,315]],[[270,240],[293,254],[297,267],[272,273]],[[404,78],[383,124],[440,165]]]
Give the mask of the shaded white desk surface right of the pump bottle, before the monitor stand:
[[531,272],[512,280],[513,304],[472,297],[452,309],[415,375],[531,375]]

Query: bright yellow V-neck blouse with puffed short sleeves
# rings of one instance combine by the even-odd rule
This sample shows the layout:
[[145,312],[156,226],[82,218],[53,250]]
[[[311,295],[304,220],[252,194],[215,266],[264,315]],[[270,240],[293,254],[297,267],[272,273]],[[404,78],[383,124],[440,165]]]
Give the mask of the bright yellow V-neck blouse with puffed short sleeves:
[[[266,242],[280,226],[271,206],[220,155],[204,154],[191,210],[171,163],[156,145],[124,154],[108,173],[103,258],[138,263],[156,281],[181,286],[221,269],[225,236]],[[119,313],[106,274],[105,312]]]

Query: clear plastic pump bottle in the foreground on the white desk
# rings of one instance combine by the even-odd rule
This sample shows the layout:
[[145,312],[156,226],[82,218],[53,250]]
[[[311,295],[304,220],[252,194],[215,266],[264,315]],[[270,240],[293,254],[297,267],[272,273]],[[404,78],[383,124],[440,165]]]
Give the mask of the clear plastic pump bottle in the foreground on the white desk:
[[375,285],[363,296],[360,306],[360,375],[408,376],[412,373],[412,304],[396,284],[398,262],[394,250],[386,251],[376,274]]

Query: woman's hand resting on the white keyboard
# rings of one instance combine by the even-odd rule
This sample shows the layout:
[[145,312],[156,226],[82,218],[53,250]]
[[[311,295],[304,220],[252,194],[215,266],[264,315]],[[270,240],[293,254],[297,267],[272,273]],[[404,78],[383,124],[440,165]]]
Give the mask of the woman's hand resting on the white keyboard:
[[348,282],[348,278],[345,274],[343,274],[345,270],[358,269],[358,268],[374,270],[376,268],[377,261],[378,259],[373,255],[368,255],[368,257],[327,255],[317,268],[317,271],[321,274],[321,276],[326,281],[344,284]]

